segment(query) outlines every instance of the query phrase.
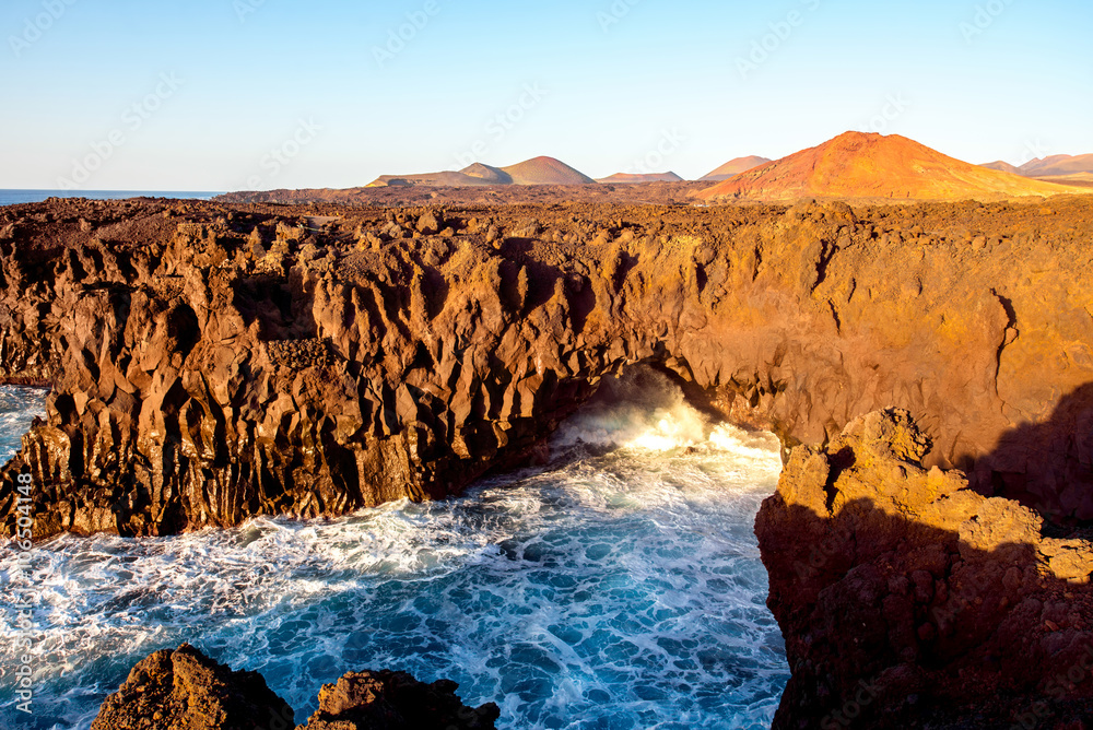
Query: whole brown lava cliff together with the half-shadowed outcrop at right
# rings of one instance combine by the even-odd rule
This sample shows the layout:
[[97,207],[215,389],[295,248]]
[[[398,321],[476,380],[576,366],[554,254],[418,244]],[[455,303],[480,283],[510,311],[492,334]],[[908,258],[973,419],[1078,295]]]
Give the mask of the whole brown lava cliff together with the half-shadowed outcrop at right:
[[642,364],[786,446],[777,727],[1082,727],[1089,199],[0,216],[0,378],[52,388],[9,534],[16,470],[37,539],[442,497]]

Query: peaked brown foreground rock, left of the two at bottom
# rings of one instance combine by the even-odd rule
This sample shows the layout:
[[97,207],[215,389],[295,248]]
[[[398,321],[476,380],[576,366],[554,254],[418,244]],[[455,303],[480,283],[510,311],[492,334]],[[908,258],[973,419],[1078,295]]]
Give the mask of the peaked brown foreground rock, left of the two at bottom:
[[258,672],[233,672],[184,644],[156,651],[106,698],[91,730],[285,730],[293,711]]

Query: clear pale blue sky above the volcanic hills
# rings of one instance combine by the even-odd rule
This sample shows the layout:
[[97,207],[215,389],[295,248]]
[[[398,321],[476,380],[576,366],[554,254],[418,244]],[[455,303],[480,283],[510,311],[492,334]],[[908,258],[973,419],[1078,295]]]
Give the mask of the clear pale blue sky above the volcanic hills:
[[848,129],[1093,153],[1091,31],[1089,0],[3,0],[0,187],[353,187],[540,154],[696,178]]

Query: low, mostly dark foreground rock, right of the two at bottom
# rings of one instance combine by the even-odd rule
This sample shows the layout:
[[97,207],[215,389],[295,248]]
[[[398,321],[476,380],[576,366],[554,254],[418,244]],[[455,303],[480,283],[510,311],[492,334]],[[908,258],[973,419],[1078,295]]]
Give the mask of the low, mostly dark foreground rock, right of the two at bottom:
[[467,707],[448,680],[432,684],[406,672],[350,672],[319,692],[319,709],[301,730],[492,730],[501,709]]

